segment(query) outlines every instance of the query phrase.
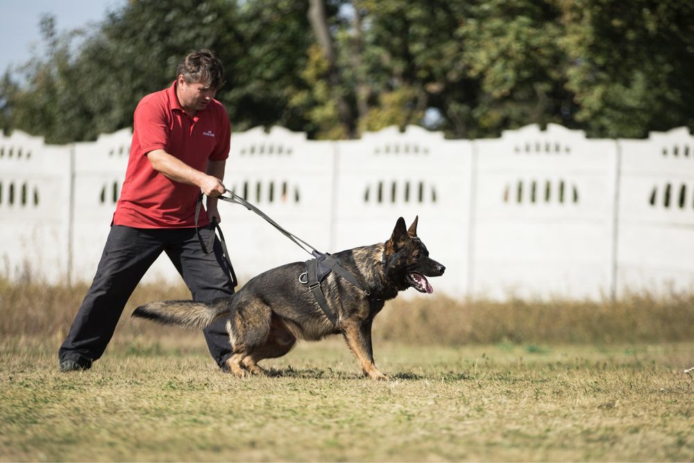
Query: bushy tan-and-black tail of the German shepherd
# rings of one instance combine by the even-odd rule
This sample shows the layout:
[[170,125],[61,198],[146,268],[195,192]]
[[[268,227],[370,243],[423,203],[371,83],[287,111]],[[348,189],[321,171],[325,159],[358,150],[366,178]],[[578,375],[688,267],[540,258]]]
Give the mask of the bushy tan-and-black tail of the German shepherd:
[[[232,296],[233,297],[233,296]],[[232,297],[210,302],[157,301],[140,305],[132,317],[149,319],[164,325],[203,329],[230,313]]]

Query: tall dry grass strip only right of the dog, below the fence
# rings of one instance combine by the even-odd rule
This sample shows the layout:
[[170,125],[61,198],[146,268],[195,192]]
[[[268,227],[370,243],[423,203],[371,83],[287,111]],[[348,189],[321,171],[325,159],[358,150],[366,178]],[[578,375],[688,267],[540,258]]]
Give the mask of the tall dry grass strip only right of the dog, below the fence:
[[614,302],[396,299],[382,318],[376,323],[387,339],[414,342],[679,342],[694,340],[694,294],[632,294]]

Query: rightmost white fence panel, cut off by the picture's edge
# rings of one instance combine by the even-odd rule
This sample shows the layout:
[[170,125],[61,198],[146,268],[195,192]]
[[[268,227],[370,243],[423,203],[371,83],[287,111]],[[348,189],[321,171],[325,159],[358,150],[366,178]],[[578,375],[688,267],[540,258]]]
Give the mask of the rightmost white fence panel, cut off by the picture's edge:
[[694,137],[620,140],[618,291],[694,287]]

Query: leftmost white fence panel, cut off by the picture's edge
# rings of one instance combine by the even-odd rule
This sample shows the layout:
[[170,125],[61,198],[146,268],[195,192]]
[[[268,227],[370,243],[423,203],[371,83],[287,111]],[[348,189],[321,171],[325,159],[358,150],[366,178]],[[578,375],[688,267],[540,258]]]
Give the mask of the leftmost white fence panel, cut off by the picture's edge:
[[0,271],[56,280],[69,267],[71,152],[40,137],[0,137]]

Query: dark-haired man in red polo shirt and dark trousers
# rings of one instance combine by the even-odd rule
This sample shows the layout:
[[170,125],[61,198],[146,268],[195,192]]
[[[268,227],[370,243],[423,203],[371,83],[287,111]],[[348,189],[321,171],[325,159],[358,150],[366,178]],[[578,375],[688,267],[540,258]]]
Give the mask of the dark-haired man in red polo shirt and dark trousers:
[[[166,90],[145,96],[135,109],[133,142],[121,197],[96,276],[60,346],[61,371],[89,369],[110,341],[118,319],[151,264],[163,252],[193,299],[233,294],[221,244],[205,254],[195,228],[196,201],[207,195],[201,237],[209,242],[219,221],[217,197],[229,154],[230,123],[214,95],[223,85],[221,62],[209,50],[194,51],[176,69]],[[230,355],[225,321],[204,330],[214,360]]]

